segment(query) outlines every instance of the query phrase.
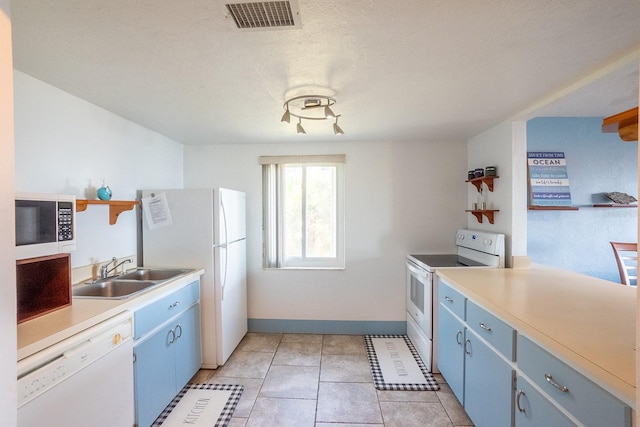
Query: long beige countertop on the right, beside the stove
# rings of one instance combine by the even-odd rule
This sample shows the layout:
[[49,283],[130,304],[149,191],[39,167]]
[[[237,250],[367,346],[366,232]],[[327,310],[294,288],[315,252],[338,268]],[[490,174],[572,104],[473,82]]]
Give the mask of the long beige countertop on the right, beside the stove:
[[437,275],[635,408],[635,287],[544,266]]

